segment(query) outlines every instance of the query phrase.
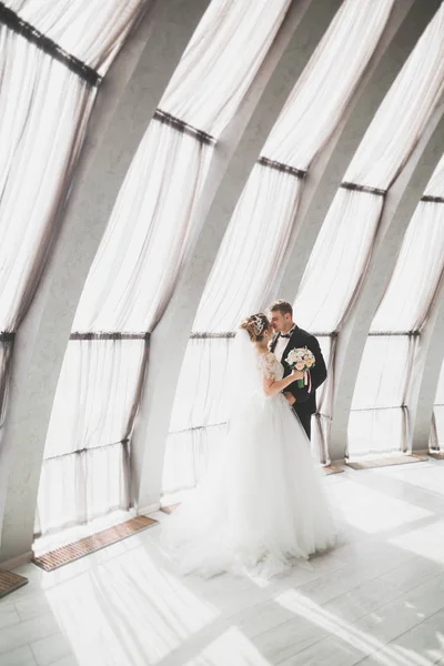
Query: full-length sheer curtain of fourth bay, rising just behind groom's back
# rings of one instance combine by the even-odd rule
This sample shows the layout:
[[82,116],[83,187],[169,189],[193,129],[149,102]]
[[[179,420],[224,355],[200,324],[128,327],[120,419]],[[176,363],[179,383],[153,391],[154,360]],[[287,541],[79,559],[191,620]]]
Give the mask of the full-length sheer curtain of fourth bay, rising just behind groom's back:
[[[294,303],[297,322],[304,329],[341,334],[372,254],[385,193],[403,169],[442,95],[443,38],[444,6],[441,6],[375,114],[317,236]],[[372,341],[369,349],[371,345],[376,349],[379,344]],[[321,396],[314,428],[325,460],[334,379],[333,352],[330,386]],[[377,418],[386,416],[381,411]],[[379,433],[385,426],[381,425]],[[402,437],[400,423],[396,427],[396,436]],[[361,451],[367,446],[367,440],[365,442],[360,445]]]

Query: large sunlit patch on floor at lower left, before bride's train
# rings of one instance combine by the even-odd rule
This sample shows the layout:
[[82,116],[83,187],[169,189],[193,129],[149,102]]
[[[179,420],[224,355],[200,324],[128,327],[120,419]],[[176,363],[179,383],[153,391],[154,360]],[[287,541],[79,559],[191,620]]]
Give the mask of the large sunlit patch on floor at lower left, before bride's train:
[[81,664],[91,655],[94,664],[155,663],[219,614],[142,549],[48,589],[47,598]]

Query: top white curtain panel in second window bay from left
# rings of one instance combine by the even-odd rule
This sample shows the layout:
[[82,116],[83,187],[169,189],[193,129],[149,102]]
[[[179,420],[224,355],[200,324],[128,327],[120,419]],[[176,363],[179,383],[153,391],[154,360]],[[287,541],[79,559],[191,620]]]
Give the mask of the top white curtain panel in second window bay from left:
[[220,137],[261,67],[291,0],[213,0],[160,108]]

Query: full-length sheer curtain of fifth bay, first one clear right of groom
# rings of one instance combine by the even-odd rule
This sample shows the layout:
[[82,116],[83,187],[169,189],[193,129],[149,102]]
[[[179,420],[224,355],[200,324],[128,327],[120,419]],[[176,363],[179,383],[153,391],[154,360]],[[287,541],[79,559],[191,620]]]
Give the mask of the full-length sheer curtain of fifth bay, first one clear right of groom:
[[416,349],[444,279],[443,195],[444,158],[412,218],[372,322],[352,404],[350,456],[407,450]]

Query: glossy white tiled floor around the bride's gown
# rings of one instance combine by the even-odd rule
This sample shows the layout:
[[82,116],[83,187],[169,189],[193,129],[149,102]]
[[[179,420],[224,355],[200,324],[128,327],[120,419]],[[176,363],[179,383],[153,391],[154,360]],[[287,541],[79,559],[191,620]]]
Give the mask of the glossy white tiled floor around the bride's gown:
[[269,584],[179,577],[159,528],[52,574],[21,567],[0,665],[443,666],[444,462],[326,483],[342,545]]

